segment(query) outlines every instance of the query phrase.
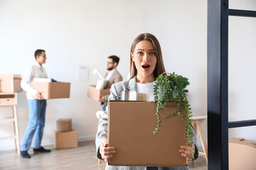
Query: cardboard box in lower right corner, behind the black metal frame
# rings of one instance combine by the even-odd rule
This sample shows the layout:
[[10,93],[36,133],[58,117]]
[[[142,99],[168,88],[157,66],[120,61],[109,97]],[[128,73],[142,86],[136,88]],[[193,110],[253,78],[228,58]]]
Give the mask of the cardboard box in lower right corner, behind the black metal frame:
[[231,138],[229,139],[228,149],[230,170],[256,169],[256,141]]

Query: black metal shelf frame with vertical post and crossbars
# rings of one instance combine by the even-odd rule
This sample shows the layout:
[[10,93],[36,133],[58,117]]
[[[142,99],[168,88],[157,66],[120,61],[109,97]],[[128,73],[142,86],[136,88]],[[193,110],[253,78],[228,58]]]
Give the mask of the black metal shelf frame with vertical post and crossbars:
[[228,170],[228,128],[256,125],[256,120],[228,122],[228,18],[256,17],[256,11],[229,9],[228,3],[208,0],[208,170]]

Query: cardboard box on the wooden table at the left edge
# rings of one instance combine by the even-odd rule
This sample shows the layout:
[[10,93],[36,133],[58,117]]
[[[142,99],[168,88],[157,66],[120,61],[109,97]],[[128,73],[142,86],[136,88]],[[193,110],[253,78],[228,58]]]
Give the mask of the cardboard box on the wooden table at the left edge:
[[0,92],[21,92],[21,74],[0,74]]

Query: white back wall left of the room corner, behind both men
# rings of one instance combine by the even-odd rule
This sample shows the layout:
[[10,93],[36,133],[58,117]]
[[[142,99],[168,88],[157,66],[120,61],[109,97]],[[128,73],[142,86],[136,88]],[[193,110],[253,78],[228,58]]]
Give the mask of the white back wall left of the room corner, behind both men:
[[[34,62],[36,49],[46,50],[48,77],[70,81],[68,99],[48,100],[43,145],[53,143],[58,118],[73,118],[80,140],[94,139],[95,112],[100,103],[87,98],[87,85],[96,84],[92,74],[97,67],[106,72],[107,57],[119,56],[117,69],[123,77],[129,72],[132,40],[143,32],[143,10],[137,1],[0,1],[0,73],[23,74]],[[78,81],[78,66],[90,68],[89,81]],[[11,109],[0,108],[1,115]],[[18,123],[23,139],[28,123],[25,92],[18,94]],[[0,123],[0,136],[11,135],[11,123]],[[14,147],[0,141],[0,149]],[[22,142],[21,142],[22,143]],[[33,147],[33,146],[32,146]]]

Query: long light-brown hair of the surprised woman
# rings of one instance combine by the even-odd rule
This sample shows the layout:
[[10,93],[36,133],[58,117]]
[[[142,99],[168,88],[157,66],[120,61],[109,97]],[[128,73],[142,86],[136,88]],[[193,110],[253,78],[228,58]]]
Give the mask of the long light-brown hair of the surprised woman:
[[142,33],[134,39],[134,42],[132,42],[130,52],[130,79],[134,78],[137,75],[137,68],[135,67],[134,61],[132,60],[132,54],[134,52],[136,45],[143,40],[148,40],[152,42],[154,50],[156,51],[156,68],[154,69],[154,77],[156,78],[160,74],[165,72],[159,41],[156,39],[154,35],[150,33]]

